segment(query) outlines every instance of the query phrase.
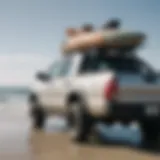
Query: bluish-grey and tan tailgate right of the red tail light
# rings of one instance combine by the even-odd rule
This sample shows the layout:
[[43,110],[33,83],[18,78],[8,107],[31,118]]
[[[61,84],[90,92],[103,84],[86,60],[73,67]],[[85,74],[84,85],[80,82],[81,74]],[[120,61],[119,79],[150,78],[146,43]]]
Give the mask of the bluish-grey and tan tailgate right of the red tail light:
[[160,83],[147,83],[140,75],[121,74],[118,101],[135,103],[160,103]]

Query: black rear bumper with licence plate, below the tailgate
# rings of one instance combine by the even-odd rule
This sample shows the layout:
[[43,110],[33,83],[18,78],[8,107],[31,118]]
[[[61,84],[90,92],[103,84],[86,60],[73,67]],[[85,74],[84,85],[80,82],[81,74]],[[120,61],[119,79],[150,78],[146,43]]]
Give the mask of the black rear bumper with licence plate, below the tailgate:
[[108,108],[105,118],[117,120],[160,120],[160,103],[132,104],[112,102]]

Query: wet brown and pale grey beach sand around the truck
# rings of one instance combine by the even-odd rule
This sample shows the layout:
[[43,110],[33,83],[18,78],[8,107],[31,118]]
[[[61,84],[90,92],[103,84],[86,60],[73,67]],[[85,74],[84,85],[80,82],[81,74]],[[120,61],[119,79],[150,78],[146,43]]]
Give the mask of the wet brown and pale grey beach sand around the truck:
[[[3,108],[3,107],[2,107]],[[0,111],[0,160],[160,160],[160,155],[124,146],[78,145],[66,132],[33,131],[26,105]]]

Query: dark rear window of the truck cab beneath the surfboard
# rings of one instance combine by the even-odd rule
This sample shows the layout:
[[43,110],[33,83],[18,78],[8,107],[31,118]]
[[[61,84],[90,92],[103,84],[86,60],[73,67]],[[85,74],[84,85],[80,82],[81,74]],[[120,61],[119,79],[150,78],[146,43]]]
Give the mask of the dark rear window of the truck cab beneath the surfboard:
[[114,70],[117,72],[139,73],[141,63],[133,58],[85,56],[81,64],[81,73]]

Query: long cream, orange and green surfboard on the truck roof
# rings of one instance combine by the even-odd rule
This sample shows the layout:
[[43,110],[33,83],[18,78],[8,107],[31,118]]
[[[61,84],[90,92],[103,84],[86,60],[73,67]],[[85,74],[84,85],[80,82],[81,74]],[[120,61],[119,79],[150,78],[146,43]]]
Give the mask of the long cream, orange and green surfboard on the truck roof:
[[143,32],[107,30],[77,34],[69,37],[62,46],[64,53],[79,51],[92,47],[127,47],[138,46],[146,38]]

